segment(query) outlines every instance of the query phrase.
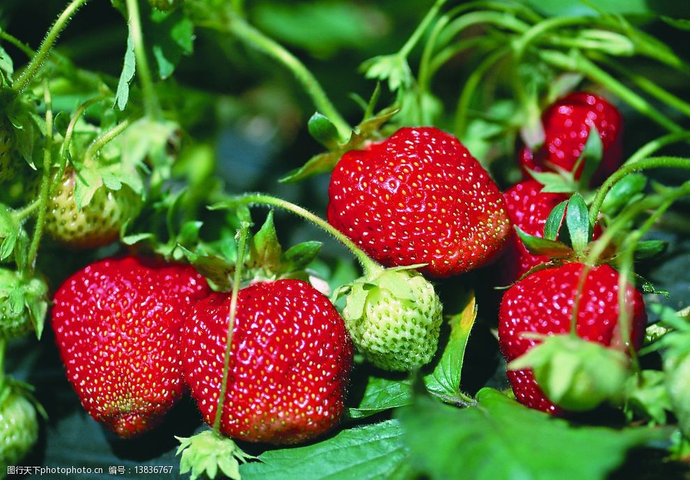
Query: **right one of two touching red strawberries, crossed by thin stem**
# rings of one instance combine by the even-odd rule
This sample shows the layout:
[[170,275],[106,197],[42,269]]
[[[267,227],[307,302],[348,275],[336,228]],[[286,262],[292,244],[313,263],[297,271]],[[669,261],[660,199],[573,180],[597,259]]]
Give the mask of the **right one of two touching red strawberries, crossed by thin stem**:
[[[182,327],[185,380],[213,424],[223,378],[229,294],[197,303]],[[220,430],[273,444],[313,438],[336,425],[352,344],[333,304],[301,280],[240,290]]]

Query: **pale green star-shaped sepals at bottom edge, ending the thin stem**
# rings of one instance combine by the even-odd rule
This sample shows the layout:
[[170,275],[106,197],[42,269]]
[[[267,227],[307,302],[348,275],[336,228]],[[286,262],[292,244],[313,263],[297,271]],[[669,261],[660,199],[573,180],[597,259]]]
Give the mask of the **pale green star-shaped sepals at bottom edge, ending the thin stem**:
[[180,473],[191,471],[191,480],[196,480],[203,474],[213,480],[219,471],[230,479],[242,480],[240,462],[246,463],[256,458],[244,453],[230,438],[212,430],[205,430],[188,438],[175,438],[180,441],[180,447],[175,452],[175,455],[182,455]]

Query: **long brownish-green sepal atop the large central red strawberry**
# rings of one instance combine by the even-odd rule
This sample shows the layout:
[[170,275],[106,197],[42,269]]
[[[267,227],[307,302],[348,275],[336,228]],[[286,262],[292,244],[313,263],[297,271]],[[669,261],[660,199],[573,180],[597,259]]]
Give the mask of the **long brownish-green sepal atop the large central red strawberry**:
[[299,182],[313,175],[320,173],[330,172],[333,170],[340,157],[349,150],[357,150],[363,147],[364,143],[372,138],[377,131],[388,122],[395,113],[398,113],[398,109],[394,107],[389,107],[377,113],[377,115],[363,120],[350,135],[350,140],[347,143],[338,145],[336,150],[331,152],[317,154],[311,157],[303,166],[296,168],[281,178],[280,181],[283,183],[289,182]]

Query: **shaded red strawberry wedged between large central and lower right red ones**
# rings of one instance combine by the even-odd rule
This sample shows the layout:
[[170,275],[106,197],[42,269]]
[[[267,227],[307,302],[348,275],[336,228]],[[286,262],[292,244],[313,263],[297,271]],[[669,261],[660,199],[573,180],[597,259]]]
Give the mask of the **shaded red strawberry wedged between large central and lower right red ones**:
[[[542,184],[536,180],[525,180],[515,184],[503,193],[505,209],[513,225],[525,233],[544,237],[544,224],[551,210],[563,200],[565,193],[542,193]],[[549,262],[547,255],[532,255],[515,232],[510,234],[501,257],[500,268],[503,282],[512,283],[535,266]]]

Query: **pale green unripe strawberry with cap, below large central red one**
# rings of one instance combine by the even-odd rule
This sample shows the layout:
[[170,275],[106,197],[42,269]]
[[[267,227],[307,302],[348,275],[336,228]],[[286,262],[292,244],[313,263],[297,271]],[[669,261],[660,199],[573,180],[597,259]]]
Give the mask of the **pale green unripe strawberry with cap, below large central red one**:
[[409,371],[431,361],[443,321],[434,287],[413,270],[384,270],[356,280],[343,318],[352,342],[373,365]]

